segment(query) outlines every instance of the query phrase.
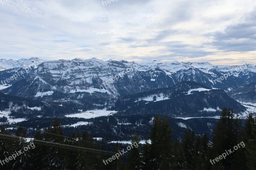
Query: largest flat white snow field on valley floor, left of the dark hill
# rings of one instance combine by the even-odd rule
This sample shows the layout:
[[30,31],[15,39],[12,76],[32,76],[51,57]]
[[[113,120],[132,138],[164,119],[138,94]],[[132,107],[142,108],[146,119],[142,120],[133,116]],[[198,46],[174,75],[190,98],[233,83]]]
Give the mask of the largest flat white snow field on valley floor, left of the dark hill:
[[107,111],[107,109],[105,108],[103,110],[88,110],[86,112],[76,113],[73,115],[65,115],[65,116],[66,117],[81,117],[81,118],[85,118],[85,119],[90,119],[93,117],[112,115],[114,113],[116,113],[116,111]]

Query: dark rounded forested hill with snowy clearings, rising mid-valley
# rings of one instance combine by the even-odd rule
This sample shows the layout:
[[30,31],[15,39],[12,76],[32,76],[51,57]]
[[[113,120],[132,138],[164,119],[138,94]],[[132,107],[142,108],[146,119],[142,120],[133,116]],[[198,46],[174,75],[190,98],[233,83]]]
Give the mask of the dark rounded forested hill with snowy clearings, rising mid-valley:
[[213,117],[220,115],[221,109],[226,106],[232,106],[237,113],[246,110],[223,90],[183,81],[169,88],[120,97],[114,109],[123,111],[122,115],[153,112],[176,117]]

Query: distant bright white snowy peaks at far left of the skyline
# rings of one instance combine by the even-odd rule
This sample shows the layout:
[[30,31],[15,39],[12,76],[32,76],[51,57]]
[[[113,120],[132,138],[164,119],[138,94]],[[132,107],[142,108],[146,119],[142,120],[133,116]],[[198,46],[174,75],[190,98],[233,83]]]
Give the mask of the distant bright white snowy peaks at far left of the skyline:
[[20,68],[20,67],[26,67],[26,66],[32,66],[32,65],[39,65],[46,60],[42,60],[37,57],[32,57],[29,59],[19,59],[19,60],[6,60],[6,59],[0,59],[0,71],[7,70],[7,69],[13,69],[13,68]]

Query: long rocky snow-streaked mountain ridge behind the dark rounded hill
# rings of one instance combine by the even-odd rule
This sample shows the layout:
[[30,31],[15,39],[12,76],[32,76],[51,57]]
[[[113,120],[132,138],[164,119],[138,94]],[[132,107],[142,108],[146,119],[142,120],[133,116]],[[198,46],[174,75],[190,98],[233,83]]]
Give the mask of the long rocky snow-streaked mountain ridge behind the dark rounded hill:
[[[256,81],[256,69],[252,64],[240,66],[241,69],[237,67],[214,66],[207,62],[137,63],[97,58],[44,61],[19,80],[8,83],[12,86],[6,86],[3,92],[39,100],[82,99],[147,92],[181,81],[194,81],[226,91]],[[0,71],[0,80],[10,78],[17,69],[6,71]],[[216,82],[224,75],[225,79]]]

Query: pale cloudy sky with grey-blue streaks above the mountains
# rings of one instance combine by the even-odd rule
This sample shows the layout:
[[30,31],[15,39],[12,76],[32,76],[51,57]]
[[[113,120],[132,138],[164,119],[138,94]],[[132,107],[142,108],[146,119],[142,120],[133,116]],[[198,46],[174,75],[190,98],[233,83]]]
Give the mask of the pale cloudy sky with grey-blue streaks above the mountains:
[[0,0],[0,58],[256,64],[255,0],[104,1]]

